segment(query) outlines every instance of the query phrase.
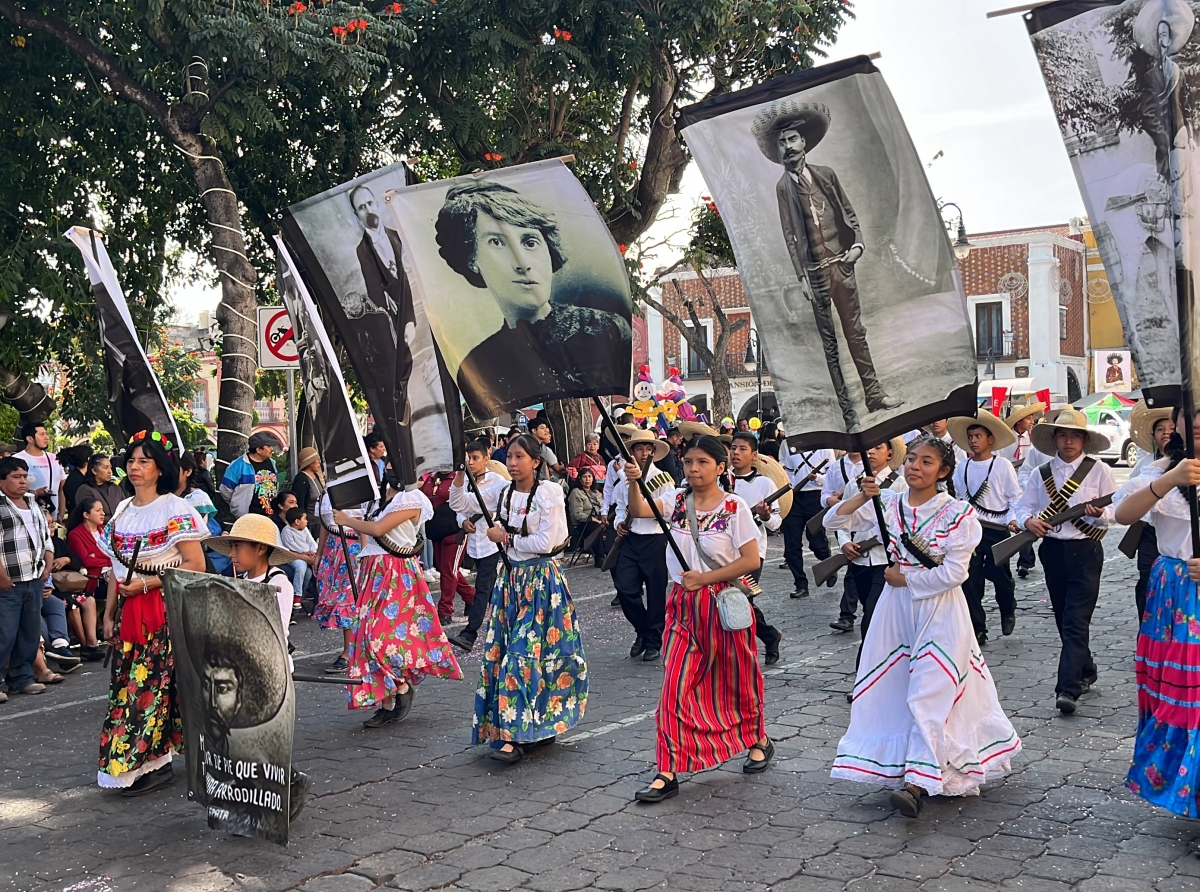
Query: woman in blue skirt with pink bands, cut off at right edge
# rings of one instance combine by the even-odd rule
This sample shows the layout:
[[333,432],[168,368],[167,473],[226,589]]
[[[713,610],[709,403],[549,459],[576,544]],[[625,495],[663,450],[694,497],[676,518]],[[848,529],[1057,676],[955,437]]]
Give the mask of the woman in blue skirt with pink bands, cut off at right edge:
[[[1138,633],[1138,737],[1126,786],[1175,814],[1200,818],[1200,561],[1192,557],[1181,490],[1200,484],[1200,460],[1183,457],[1182,424],[1177,413],[1166,457],[1130,478],[1112,501],[1117,523],[1148,514],[1159,552]],[[1192,429],[1200,437],[1200,414]]]

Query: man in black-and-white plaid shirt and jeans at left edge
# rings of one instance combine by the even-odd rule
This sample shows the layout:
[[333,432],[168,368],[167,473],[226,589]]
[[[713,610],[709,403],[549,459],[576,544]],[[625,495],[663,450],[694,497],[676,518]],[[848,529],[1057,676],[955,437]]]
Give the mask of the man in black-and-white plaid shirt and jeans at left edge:
[[[16,456],[0,459],[0,664],[8,664],[10,692],[46,690],[34,677],[34,660],[42,589],[53,561],[46,516],[29,495],[29,466]],[[0,702],[7,699],[4,695]]]

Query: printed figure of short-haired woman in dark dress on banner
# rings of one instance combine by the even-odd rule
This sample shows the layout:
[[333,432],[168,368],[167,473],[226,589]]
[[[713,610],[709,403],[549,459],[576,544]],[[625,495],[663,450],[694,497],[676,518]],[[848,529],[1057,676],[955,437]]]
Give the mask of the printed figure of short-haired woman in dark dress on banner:
[[446,192],[436,232],[442,258],[486,288],[504,317],[458,367],[458,389],[476,417],[628,387],[629,323],[552,299],[566,256],[546,210],[499,182],[468,182]]

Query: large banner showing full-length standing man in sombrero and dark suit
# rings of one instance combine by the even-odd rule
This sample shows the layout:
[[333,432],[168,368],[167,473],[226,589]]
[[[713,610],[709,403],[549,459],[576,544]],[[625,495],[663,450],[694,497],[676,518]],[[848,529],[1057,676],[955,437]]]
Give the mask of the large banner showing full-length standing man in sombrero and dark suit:
[[716,96],[678,126],[730,234],[793,448],[976,411],[946,228],[865,56]]

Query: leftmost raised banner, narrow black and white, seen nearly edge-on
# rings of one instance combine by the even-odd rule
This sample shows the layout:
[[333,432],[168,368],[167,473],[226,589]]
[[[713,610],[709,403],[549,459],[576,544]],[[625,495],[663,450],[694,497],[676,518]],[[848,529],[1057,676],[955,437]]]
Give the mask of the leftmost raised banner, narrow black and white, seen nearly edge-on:
[[73,226],[65,234],[83,255],[91,293],[96,298],[100,340],[104,345],[108,401],[113,406],[113,419],[121,426],[120,431],[112,433],[120,433],[118,439],[124,442],[138,431],[158,431],[168,435],[182,450],[184,438],[179,436],[158,376],[138,341],[133,317],[103,240],[98,233],[82,226]]

